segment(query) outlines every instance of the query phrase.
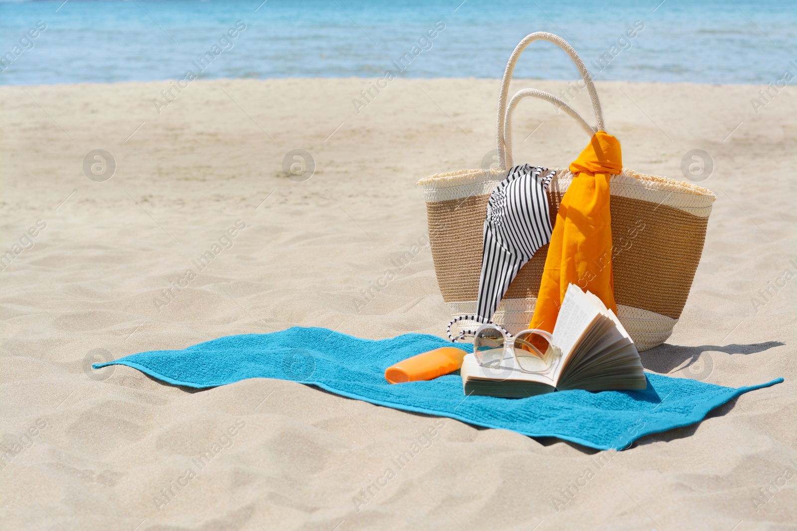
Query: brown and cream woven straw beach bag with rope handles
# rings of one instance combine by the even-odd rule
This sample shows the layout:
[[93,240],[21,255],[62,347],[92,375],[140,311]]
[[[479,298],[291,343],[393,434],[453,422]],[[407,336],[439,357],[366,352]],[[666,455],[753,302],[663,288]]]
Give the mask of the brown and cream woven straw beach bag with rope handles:
[[[538,40],[558,45],[579,68],[592,100],[596,127],[587,124],[556,96],[536,89],[521,90],[507,105],[516,61],[526,46]],[[595,85],[575,50],[552,33],[532,33],[520,41],[509,57],[498,97],[498,169],[460,170],[432,175],[419,182],[426,199],[434,270],[446,306],[455,318],[473,315],[477,310],[487,201],[512,168],[511,116],[517,103],[526,96],[555,104],[576,119],[590,137],[595,131],[604,130]],[[533,165],[541,166],[540,162]],[[548,186],[552,225],[571,181],[569,170],[556,170]],[[611,177],[614,299],[618,318],[638,350],[665,342],[681,317],[703,252],[706,225],[715,199],[708,189],[640,174],[629,168]],[[545,244],[520,269],[493,315],[493,322],[513,334],[527,328],[531,321],[547,254],[548,244]]]

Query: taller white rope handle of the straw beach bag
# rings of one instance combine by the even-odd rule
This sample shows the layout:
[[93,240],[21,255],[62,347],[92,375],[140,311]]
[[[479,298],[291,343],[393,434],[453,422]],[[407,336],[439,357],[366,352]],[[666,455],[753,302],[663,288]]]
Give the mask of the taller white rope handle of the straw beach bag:
[[[592,83],[592,77],[590,76],[590,72],[587,71],[587,67],[584,66],[583,61],[581,61],[581,57],[579,57],[579,54],[575,53],[575,49],[573,49],[571,45],[567,44],[567,41],[565,41],[562,37],[559,37],[558,35],[554,35],[553,33],[548,33],[547,31],[538,31],[535,33],[530,33],[529,35],[524,37],[524,39],[520,41],[520,43],[512,51],[512,55],[509,56],[509,61],[506,64],[506,69],[504,71],[504,79],[501,80],[501,93],[498,95],[498,118],[497,118],[498,131],[496,139],[498,147],[498,167],[501,170],[505,170],[507,167],[508,151],[505,143],[505,119],[507,114],[506,98],[509,93],[509,82],[512,81],[512,72],[514,72],[515,70],[515,64],[517,63],[518,57],[520,57],[520,54],[523,53],[524,49],[526,49],[526,46],[530,45],[534,41],[552,42],[553,44],[559,46],[559,48],[567,52],[567,55],[570,56],[571,60],[575,63],[575,66],[579,68],[579,73],[581,74],[584,83],[587,84],[587,92],[590,93],[590,99],[592,100],[592,109],[593,111],[595,111],[595,121],[597,123],[595,131],[604,131],[603,111],[601,111],[600,100],[598,99],[598,92],[595,91],[595,84]],[[556,96],[553,97],[556,98]],[[548,100],[547,97],[544,97],[544,99]],[[559,101],[561,102],[561,100]],[[552,101],[552,103],[554,102]],[[554,104],[558,106],[558,103]],[[568,114],[570,113],[568,112]]]

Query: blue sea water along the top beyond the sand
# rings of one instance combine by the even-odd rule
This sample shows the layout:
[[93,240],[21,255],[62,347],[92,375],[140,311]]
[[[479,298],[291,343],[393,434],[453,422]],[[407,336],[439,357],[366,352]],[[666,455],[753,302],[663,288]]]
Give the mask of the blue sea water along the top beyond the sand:
[[[540,30],[598,80],[766,84],[797,63],[797,4],[782,0],[55,0],[0,2],[0,84],[378,77],[408,53],[401,76],[497,78]],[[544,43],[516,76],[577,72]]]

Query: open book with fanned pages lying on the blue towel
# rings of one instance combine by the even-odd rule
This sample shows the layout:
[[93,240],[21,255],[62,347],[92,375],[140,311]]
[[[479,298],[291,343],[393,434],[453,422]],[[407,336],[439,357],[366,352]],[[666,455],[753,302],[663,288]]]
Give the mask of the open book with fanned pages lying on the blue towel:
[[557,389],[644,389],[647,386],[637,347],[614,312],[603,302],[567,287],[553,342],[562,350],[558,365],[548,373],[524,373],[516,368],[515,357],[505,353],[500,365],[483,367],[473,354],[462,361],[465,395],[524,398]]

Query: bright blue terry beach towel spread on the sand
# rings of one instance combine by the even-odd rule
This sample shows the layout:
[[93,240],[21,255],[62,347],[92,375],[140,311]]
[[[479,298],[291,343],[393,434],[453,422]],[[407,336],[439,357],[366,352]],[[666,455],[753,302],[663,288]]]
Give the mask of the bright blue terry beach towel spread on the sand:
[[[695,424],[713,408],[753,389],[783,381],[729,388],[646,373],[643,391],[580,390],[522,399],[465,396],[457,373],[433,381],[390,385],[387,367],[415,354],[451,346],[445,339],[403,334],[373,341],[325,328],[294,326],[273,334],[218,338],[183,350],[155,350],[108,363],[128,365],[159,380],[192,388],[246,378],[279,378],[317,385],[338,395],[388,408],[446,416],[532,437],[557,437],[599,450],[622,449],[635,439]],[[470,349],[467,344],[456,344]]]

